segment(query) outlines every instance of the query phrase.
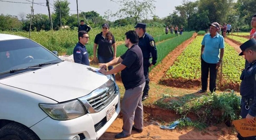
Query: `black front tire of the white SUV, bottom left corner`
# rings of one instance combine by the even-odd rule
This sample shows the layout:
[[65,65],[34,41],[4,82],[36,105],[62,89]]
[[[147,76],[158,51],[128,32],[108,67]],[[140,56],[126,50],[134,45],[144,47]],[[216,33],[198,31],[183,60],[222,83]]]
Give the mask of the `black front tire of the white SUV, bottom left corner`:
[[28,127],[12,122],[0,129],[0,140],[40,140],[40,138]]

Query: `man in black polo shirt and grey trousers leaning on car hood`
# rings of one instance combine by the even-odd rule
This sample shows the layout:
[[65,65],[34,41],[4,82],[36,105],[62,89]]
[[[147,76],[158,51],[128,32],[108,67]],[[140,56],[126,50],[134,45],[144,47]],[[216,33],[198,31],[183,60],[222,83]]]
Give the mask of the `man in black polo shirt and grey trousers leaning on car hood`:
[[[143,129],[143,104],[142,91],[145,87],[145,77],[143,74],[143,54],[138,46],[138,35],[135,31],[125,33],[125,46],[128,50],[122,56],[108,62],[100,63],[100,68],[116,66],[110,71],[100,69],[102,74],[114,74],[121,71],[122,83],[125,86],[125,94],[122,100],[123,131],[115,135],[116,139],[129,137],[131,130],[139,133]],[[134,126],[132,125],[134,122]]]

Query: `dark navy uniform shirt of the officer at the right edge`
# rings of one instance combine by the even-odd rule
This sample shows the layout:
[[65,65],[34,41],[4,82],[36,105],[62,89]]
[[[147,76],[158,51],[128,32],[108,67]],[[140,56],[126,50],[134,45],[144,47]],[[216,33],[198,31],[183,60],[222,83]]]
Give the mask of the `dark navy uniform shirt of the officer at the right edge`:
[[240,95],[245,98],[254,98],[249,114],[256,117],[256,63],[254,62],[253,65],[247,63],[245,68],[240,76],[240,80],[242,80]]

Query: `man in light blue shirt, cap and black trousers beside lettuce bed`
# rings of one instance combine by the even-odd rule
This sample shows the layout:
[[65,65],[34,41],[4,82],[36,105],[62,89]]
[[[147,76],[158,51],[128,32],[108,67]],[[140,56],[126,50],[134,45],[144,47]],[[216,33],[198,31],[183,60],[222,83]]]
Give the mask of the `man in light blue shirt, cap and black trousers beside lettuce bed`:
[[[208,74],[210,72],[209,90],[216,90],[217,71],[224,55],[224,38],[218,34],[220,25],[216,22],[209,24],[209,34],[204,35],[201,47],[201,83],[202,89],[198,93],[207,91]],[[221,53],[220,53],[221,50]],[[220,57],[219,57],[220,54]]]

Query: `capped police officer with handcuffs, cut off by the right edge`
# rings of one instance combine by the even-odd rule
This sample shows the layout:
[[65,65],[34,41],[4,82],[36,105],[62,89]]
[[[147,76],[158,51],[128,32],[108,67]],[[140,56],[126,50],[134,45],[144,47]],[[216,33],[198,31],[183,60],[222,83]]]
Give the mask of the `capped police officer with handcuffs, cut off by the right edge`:
[[[240,46],[242,52],[248,61],[240,76],[240,95],[241,98],[241,117],[246,118],[248,123],[255,123],[256,117],[256,40],[251,39]],[[237,135],[239,140],[256,140],[256,134],[252,137],[242,137]]]

